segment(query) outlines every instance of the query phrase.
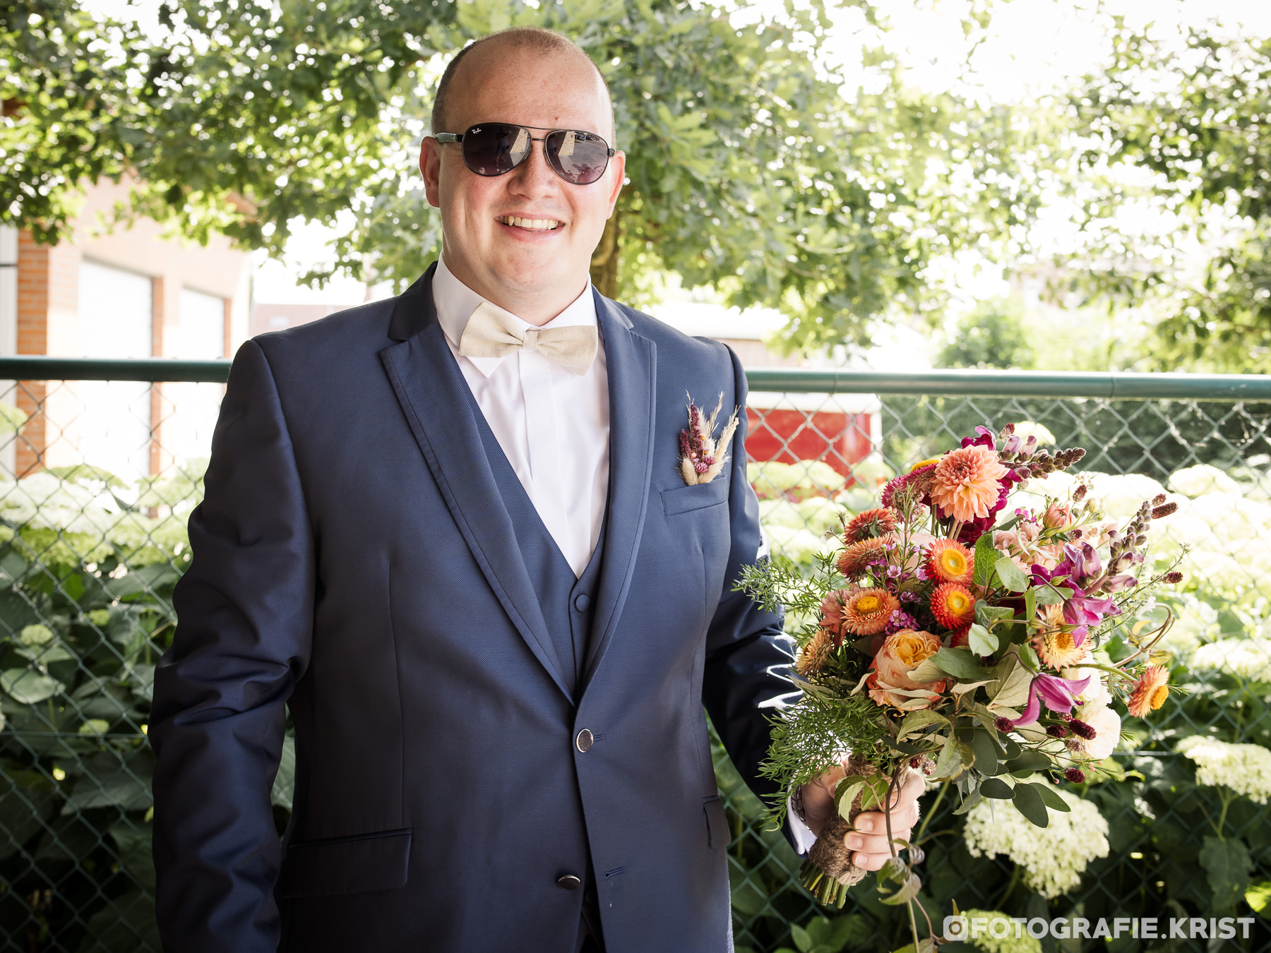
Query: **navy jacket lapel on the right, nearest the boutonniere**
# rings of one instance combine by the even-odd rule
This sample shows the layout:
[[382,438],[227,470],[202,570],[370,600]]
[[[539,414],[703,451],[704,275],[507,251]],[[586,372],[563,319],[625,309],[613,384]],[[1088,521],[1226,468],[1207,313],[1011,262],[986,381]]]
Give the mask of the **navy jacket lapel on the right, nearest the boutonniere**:
[[604,658],[636,569],[653,468],[653,381],[657,348],[636,334],[613,301],[596,296],[609,371],[609,515],[596,615],[583,665],[583,687]]

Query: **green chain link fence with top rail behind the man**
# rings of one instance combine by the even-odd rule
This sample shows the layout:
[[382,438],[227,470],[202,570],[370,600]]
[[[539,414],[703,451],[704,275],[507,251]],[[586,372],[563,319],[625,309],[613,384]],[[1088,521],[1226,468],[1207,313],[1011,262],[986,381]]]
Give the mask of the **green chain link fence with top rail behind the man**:
[[[13,379],[0,382],[4,949],[160,949],[146,719],[226,368],[0,360],[0,375]],[[773,551],[796,562],[829,545],[843,508],[874,504],[890,475],[976,426],[1012,422],[1043,442],[1087,447],[1083,468],[1098,474],[1094,492],[1110,517],[1158,492],[1179,502],[1159,526],[1158,553],[1172,559],[1190,548],[1187,579],[1169,597],[1178,616],[1172,680],[1186,694],[1171,695],[1149,722],[1126,724],[1132,737],[1116,756],[1124,780],[1068,785],[1098,812],[1069,831],[1084,846],[1047,846],[1022,831],[1014,856],[975,856],[966,817],[952,813],[955,795],[929,792],[919,900],[937,929],[953,903],[1085,917],[1091,934],[1101,917],[1108,925],[1160,917],[1168,936],[1169,917],[1215,917],[1216,926],[1218,917],[1240,916],[1252,924],[1239,924],[1234,938],[1012,935],[985,938],[981,948],[1271,949],[1271,818],[1230,787],[1199,784],[1196,765],[1176,750],[1191,734],[1271,747],[1271,386],[1169,375],[750,376],[750,478]],[[1233,784],[1243,778],[1254,795],[1271,789],[1271,760],[1265,776],[1261,764],[1237,765]],[[289,747],[273,797],[280,831],[292,767]],[[798,886],[799,858],[763,828],[763,806],[718,746],[716,770],[735,831],[728,858],[740,952],[882,953],[909,943],[904,909],[881,903],[872,881],[826,919]],[[1099,837],[1106,855],[1087,865],[1065,854],[1091,853]],[[1045,896],[1037,884],[1054,873],[1047,865],[1068,870],[1074,884]]]

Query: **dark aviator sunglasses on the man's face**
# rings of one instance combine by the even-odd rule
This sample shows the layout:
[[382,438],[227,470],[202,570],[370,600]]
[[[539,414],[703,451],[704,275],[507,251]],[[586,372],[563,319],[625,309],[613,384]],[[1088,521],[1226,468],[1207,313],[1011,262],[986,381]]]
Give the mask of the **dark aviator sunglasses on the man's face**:
[[[530,130],[547,132],[541,139]],[[524,163],[531,144],[541,142],[548,165],[573,186],[590,186],[605,174],[615,150],[595,132],[544,130],[540,126],[513,126],[510,122],[483,122],[466,132],[438,132],[438,142],[459,142],[464,165],[478,175],[502,175]]]

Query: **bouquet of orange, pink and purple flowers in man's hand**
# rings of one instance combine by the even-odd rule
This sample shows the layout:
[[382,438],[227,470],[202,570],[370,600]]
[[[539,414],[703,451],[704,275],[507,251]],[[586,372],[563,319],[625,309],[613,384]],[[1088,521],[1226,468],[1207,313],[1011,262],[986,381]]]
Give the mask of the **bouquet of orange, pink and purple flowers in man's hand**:
[[[1084,455],[1040,451],[1010,424],[977,427],[891,480],[880,507],[844,513],[841,548],[810,573],[775,558],[742,577],[742,590],[796,624],[802,696],[775,717],[763,767],[783,792],[773,817],[801,785],[846,770],[836,814],[803,864],[803,886],[822,903],[841,907],[864,877],[844,846],[855,816],[887,812],[911,771],[952,781],[957,813],[1003,798],[1045,827],[1049,811],[1069,809],[1059,778],[1118,774],[1112,703],[1124,699],[1134,717],[1164,703],[1168,659],[1154,644],[1171,619],[1150,632],[1141,620],[1153,590],[1182,577],[1177,562],[1146,571],[1144,557],[1153,520],[1177,504],[1144,501],[1120,526],[1087,483],[1038,492]],[[1036,504],[1005,512],[1008,497],[1024,496]],[[1096,649],[1118,629],[1129,654],[1113,663]],[[894,842],[880,878],[899,886],[880,887],[883,902],[918,893],[920,862],[918,848]]]

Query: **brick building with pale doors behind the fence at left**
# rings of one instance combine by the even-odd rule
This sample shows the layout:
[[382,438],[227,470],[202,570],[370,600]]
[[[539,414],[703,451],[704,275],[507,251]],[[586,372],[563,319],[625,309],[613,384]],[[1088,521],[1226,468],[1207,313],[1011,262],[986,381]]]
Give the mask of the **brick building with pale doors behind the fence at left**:
[[[89,188],[71,240],[57,245],[3,230],[0,355],[211,358],[247,339],[248,255],[224,238],[203,247],[165,236],[150,219],[107,231],[127,194],[127,183]],[[29,418],[0,455],[0,471],[17,475],[81,460],[121,476],[161,473],[206,447],[220,399],[219,385],[0,386],[0,400]]]

